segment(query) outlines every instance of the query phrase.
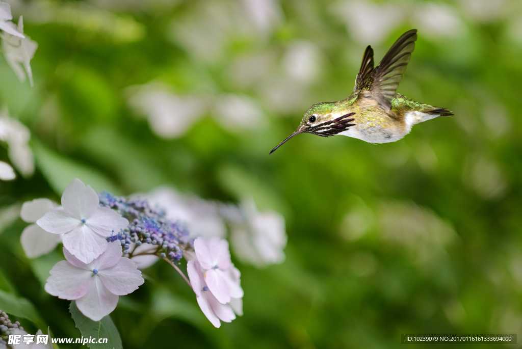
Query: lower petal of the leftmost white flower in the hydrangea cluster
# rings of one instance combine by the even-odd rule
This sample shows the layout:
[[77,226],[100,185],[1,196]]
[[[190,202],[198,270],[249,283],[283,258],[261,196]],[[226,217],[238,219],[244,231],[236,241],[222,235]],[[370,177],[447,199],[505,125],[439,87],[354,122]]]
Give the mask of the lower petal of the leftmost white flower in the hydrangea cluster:
[[51,252],[60,242],[60,235],[44,231],[36,224],[30,224],[22,231],[20,243],[28,258],[36,258]]

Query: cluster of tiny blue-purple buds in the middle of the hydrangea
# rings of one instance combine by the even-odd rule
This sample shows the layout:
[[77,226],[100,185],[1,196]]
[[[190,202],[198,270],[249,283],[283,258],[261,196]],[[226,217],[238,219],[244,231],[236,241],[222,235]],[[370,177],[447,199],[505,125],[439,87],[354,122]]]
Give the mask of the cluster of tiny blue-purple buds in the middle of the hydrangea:
[[[98,196],[101,207],[110,208],[131,222],[124,230],[107,238],[108,241],[119,240],[124,255],[133,257],[147,251],[146,254],[168,257],[171,261],[183,257],[183,251],[190,243],[183,224],[165,219],[163,211],[152,208],[145,200],[117,197],[106,191]],[[144,244],[152,246],[139,248]]]

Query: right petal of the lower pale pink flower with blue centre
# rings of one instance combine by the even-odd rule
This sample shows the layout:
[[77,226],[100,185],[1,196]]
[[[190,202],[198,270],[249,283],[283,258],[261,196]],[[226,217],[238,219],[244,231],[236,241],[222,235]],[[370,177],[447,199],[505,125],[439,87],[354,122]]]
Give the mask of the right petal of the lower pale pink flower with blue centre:
[[136,264],[125,257],[120,257],[120,261],[114,267],[100,270],[98,275],[107,290],[118,296],[136,291],[138,286],[145,282]]

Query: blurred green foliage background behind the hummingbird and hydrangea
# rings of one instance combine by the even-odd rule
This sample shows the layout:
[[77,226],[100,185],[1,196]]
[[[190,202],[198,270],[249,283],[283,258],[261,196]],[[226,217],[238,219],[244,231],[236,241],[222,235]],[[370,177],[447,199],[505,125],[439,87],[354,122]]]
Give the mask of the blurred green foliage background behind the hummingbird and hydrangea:
[[[111,314],[125,348],[392,348],[401,333],[520,338],[519,1],[10,3],[39,46],[32,89],[0,59],[0,103],[31,129],[37,171],[0,183],[5,210],[59,201],[79,177],[117,194],[162,184],[222,201],[250,194],[287,220],[284,263],[259,270],[234,260],[245,315],[220,329],[167,263],[144,270],[147,282]],[[256,3],[275,12],[256,21],[259,10],[248,12]],[[454,116],[396,143],[300,135],[268,155],[312,103],[350,94],[365,45],[378,61],[412,27],[419,40],[398,92]],[[209,106],[180,137],[158,137],[129,90],[150,81]],[[215,112],[223,94],[255,101],[264,122],[223,127]],[[42,268],[61,251],[30,261],[19,242],[25,223],[7,214],[1,226],[0,303],[19,299],[26,308],[13,315],[30,333],[44,322],[57,337],[79,337],[69,302],[43,291]]]

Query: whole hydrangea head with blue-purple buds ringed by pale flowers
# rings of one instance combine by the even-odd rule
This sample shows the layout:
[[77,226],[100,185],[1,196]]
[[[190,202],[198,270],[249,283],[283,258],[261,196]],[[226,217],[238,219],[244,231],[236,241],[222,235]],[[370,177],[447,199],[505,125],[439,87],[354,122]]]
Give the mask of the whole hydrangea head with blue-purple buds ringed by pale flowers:
[[[205,316],[220,327],[220,321],[230,322],[236,315],[242,315],[243,289],[241,273],[231,261],[229,243],[221,236],[211,235],[222,235],[225,221],[254,226],[255,241],[270,254],[277,252],[281,244],[271,247],[266,242],[260,243],[267,236],[270,240],[262,225],[274,228],[275,236],[282,231],[286,243],[284,221],[274,220],[272,213],[259,214],[255,206],[248,211],[250,215],[245,215],[243,209],[233,205],[186,199],[181,195],[176,198],[181,198],[183,204],[175,203],[168,208],[183,209],[188,203],[190,210],[184,209],[192,210],[187,215],[191,217],[189,225],[201,230],[204,226],[210,228],[210,236],[189,234],[186,223],[174,221],[180,215],[172,210],[165,212],[136,197],[114,196],[105,191],[97,194],[79,179],[73,179],[63,192],[61,206],[44,198],[22,205],[21,218],[36,223],[22,232],[22,247],[28,257],[37,257],[53,250],[60,241],[63,243],[66,260],[52,268],[45,291],[75,300],[82,314],[94,321],[110,314],[119,296],[132,293],[144,283],[138,267],[145,268],[162,258],[183,275]],[[195,212],[212,224],[198,225]],[[190,281],[177,267],[182,257],[188,260]],[[269,262],[276,259],[268,258]]]

